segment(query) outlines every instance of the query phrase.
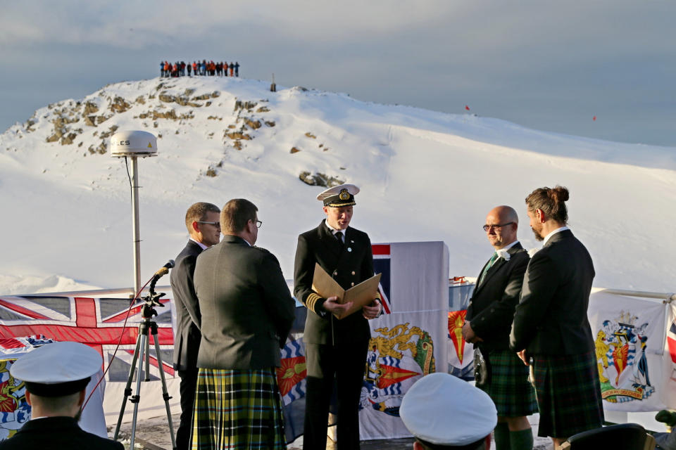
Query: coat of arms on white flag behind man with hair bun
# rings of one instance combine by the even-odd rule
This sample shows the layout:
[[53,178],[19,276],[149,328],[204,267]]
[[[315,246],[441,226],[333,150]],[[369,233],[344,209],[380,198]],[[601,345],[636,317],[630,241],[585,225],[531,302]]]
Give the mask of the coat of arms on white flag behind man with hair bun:
[[644,400],[655,392],[646,359],[649,323],[637,325],[637,316],[622,311],[603,321],[596,333],[596,362],[601,396],[611,403]]

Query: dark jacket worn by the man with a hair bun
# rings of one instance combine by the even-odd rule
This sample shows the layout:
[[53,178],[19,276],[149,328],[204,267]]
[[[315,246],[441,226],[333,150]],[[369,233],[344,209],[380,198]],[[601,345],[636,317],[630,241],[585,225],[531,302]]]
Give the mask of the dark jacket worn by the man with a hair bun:
[[510,347],[527,354],[582,354],[594,349],[587,319],[594,264],[570,230],[560,231],[531,259],[514,314]]

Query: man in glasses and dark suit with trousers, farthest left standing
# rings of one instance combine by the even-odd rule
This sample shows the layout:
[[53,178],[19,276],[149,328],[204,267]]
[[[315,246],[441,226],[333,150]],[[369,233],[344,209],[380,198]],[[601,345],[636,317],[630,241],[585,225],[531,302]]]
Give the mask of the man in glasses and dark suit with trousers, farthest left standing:
[[170,283],[176,308],[174,368],[181,378],[181,420],[176,432],[176,448],[187,450],[192,430],[192,408],[197,384],[197,351],[201,335],[201,314],[193,285],[195,262],[202,250],[220,240],[220,210],[211,203],[195,203],[185,214],[190,239],[176,257]]

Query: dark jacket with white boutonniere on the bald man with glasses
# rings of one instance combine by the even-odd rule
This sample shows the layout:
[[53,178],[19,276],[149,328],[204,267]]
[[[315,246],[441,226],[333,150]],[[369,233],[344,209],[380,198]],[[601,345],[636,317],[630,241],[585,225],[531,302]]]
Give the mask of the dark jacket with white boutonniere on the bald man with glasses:
[[[509,261],[497,259],[483,280],[477,278],[480,284],[474,288],[467,309],[466,319],[471,322],[472,330],[484,340],[479,347],[487,351],[509,348],[514,308],[519,302],[523,274],[530,259],[520,243],[515,243],[507,252]],[[483,271],[482,268],[480,274]]]

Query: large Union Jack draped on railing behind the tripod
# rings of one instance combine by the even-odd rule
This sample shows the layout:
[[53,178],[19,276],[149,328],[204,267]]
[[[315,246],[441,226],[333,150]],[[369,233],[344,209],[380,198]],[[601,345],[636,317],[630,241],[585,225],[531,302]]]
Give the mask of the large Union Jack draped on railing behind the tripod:
[[[157,337],[165,377],[175,376],[172,367],[173,330],[170,300],[160,300],[169,307],[157,307]],[[132,307],[123,328],[129,302],[125,299],[86,297],[0,297],[0,340],[42,335],[57,341],[82,342],[96,349],[109,364],[108,381],[126,381],[134,354],[142,307]],[[120,340],[121,335],[121,340]],[[155,344],[150,335],[151,379],[159,379]],[[120,342],[115,359],[113,352]],[[111,362],[112,360],[112,362]]]

